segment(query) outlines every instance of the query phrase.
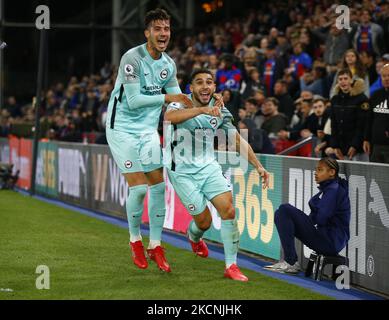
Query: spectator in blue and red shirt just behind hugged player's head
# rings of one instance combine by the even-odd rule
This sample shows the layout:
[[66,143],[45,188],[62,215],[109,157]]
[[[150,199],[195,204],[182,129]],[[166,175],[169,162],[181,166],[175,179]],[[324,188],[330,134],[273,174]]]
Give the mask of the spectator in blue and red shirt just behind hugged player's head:
[[242,72],[234,64],[232,54],[224,54],[220,57],[220,67],[216,72],[217,90],[230,89],[238,91],[242,80]]

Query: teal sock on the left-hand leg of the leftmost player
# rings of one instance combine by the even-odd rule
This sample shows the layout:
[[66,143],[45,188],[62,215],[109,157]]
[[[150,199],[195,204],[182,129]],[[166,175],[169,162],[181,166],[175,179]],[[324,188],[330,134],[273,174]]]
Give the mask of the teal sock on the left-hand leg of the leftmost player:
[[147,193],[147,185],[141,184],[129,188],[126,201],[128,229],[130,236],[140,237],[140,224],[142,222],[143,200]]

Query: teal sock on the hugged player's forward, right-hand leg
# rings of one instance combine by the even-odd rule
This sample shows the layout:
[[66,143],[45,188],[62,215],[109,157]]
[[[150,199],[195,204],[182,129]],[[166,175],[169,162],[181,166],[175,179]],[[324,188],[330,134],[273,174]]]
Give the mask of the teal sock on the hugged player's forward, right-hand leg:
[[231,264],[236,264],[236,256],[238,255],[239,229],[236,219],[222,220],[220,232],[224,245],[224,259],[228,267]]

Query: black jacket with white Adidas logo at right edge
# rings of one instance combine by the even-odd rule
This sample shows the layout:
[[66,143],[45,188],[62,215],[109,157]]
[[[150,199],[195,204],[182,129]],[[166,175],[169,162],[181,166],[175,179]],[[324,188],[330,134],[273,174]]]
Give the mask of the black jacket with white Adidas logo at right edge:
[[389,145],[389,89],[374,92],[370,107],[366,140],[373,145]]

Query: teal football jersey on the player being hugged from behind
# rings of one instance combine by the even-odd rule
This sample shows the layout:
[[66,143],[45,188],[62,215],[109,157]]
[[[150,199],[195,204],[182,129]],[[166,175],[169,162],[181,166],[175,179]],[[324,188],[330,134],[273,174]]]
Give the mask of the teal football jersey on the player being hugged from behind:
[[[182,108],[185,106],[173,102],[167,110]],[[227,141],[228,134],[236,133],[231,113],[225,107],[221,111],[221,117],[201,114],[180,124],[169,125],[165,133],[164,164],[167,168],[178,173],[195,173],[216,161],[215,136],[223,136]]]

